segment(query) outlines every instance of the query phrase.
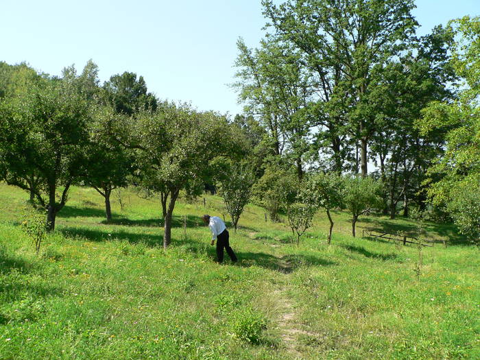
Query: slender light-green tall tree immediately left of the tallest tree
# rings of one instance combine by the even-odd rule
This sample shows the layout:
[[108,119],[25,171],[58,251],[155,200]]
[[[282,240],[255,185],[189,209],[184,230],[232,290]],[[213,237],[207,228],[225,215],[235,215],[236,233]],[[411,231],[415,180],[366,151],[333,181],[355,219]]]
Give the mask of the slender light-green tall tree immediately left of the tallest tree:
[[239,88],[239,98],[247,105],[245,110],[267,129],[274,154],[285,152],[301,179],[312,127],[307,112],[312,77],[302,67],[298,52],[287,43],[262,40],[261,47],[253,51],[243,40],[237,46],[240,81],[235,85]]

